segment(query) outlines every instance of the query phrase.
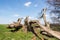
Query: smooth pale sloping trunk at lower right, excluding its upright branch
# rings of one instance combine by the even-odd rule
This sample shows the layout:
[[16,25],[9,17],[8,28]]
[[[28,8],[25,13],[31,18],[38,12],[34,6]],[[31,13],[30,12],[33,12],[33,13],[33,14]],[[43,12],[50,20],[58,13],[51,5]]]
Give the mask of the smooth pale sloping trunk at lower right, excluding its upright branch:
[[[38,23],[39,24],[39,23]],[[51,34],[52,36],[60,39],[60,32],[57,32],[57,31],[53,31],[51,29],[48,29],[47,27],[39,24],[40,28],[42,28],[44,31],[46,31],[47,33]]]

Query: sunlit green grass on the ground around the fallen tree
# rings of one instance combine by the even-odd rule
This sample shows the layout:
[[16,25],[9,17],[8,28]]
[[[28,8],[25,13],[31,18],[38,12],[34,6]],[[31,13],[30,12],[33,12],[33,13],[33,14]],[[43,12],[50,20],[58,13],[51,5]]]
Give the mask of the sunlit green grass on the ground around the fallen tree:
[[[17,32],[10,32],[9,29],[6,28],[7,25],[0,24],[0,40],[31,40],[33,37],[33,34],[31,32],[24,33],[21,29]],[[42,35],[39,35],[40,37]],[[48,40],[58,40],[56,38],[49,38],[46,36],[43,36],[47,38]],[[37,38],[37,40],[39,40]]]

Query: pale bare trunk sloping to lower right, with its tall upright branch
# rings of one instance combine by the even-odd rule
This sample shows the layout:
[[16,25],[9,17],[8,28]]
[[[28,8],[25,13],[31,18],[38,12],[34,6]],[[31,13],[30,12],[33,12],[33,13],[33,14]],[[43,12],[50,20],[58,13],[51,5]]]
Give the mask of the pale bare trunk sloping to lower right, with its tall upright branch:
[[47,33],[51,34],[52,36],[60,39],[60,32],[57,31],[53,31],[52,29],[50,29],[49,24],[46,22],[46,15],[45,15],[45,9],[43,10],[44,15],[43,15],[43,19],[45,22],[46,26],[41,25],[40,23],[37,22],[37,24],[39,24],[40,28],[42,28],[44,31],[46,31]]

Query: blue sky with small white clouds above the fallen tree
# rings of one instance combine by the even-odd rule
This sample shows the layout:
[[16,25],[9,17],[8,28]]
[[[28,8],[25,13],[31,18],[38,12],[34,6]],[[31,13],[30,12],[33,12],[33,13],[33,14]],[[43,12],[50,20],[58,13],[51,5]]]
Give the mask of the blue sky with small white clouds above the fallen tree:
[[36,18],[45,7],[45,0],[0,0],[0,24],[26,16]]

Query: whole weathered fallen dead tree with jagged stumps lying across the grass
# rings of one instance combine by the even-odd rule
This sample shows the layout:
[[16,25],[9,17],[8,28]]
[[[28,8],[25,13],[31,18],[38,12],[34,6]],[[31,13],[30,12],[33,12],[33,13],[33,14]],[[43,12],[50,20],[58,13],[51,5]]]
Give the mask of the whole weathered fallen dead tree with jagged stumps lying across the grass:
[[[50,35],[52,35],[52,36],[60,39],[60,32],[52,30],[52,29],[50,28],[50,23],[46,21],[46,14],[45,14],[45,12],[46,12],[46,9],[43,9],[42,18],[44,19],[45,25],[42,25],[42,24],[41,24],[40,22],[38,22],[38,21],[35,21],[35,22],[34,22],[34,20],[29,22],[28,17],[26,17],[25,20],[24,20],[24,25],[20,25],[20,24],[21,24],[21,19],[18,19],[17,22],[14,22],[12,25],[9,25],[8,28],[20,28],[21,26],[23,26],[24,32],[27,32],[28,28],[31,30],[31,29],[32,29],[32,28],[31,28],[31,27],[32,27],[31,25],[34,24],[34,23],[36,23],[36,24],[39,25],[39,26],[37,26],[37,27],[39,27],[40,29],[43,29],[43,31],[45,31],[47,34],[50,34]],[[30,25],[30,24],[31,24],[31,25]],[[34,29],[34,28],[33,28],[33,29]],[[16,30],[16,29],[15,29],[15,30]],[[36,30],[35,30],[35,33],[38,34]],[[38,35],[37,35],[37,36],[38,36]],[[34,39],[35,39],[35,38],[34,38]],[[43,40],[43,38],[41,38],[41,39]]]

